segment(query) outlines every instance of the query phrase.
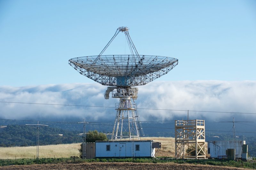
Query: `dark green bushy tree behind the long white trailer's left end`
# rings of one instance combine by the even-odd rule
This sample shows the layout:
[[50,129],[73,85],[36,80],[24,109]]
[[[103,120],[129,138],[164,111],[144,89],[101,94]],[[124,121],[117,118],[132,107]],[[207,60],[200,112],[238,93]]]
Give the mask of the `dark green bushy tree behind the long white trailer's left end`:
[[[85,141],[87,143],[94,143],[95,141],[107,141],[107,135],[104,133],[99,133],[97,130],[89,130],[88,133],[86,133]],[[82,158],[83,149],[82,149],[82,143],[80,144],[79,151],[79,157]]]

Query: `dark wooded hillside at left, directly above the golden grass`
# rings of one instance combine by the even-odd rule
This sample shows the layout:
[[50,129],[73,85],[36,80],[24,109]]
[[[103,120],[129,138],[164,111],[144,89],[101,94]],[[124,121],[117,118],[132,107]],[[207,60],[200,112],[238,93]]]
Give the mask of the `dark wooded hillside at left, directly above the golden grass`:
[[[0,146],[35,146],[36,126],[8,125],[0,128]],[[40,145],[65,144],[82,142],[78,131],[68,131],[60,128],[39,127]]]

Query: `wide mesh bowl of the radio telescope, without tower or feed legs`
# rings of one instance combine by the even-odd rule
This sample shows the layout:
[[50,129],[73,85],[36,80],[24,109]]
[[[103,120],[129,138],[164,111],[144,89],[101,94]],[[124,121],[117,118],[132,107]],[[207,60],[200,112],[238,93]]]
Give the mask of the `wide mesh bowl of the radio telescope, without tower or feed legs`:
[[[140,57],[140,58],[139,58]],[[104,55],[72,58],[69,64],[80,74],[106,86],[145,85],[178,64],[178,59],[163,56]]]

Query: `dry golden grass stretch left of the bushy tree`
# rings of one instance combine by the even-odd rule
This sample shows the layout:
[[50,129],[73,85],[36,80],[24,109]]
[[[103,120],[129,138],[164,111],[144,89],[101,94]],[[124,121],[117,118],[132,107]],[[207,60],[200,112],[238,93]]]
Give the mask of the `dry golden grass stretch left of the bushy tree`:
[[[39,158],[79,156],[80,143],[39,146]],[[35,158],[36,146],[0,147],[0,159]]]

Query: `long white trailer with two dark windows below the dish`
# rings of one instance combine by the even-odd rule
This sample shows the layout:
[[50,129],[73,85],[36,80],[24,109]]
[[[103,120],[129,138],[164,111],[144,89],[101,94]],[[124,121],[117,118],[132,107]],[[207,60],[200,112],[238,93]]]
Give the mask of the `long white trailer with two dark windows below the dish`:
[[155,148],[161,143],[153,140],[141,141],[96,141],[97,158],[102,157],[155,157]]

